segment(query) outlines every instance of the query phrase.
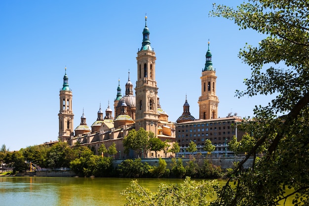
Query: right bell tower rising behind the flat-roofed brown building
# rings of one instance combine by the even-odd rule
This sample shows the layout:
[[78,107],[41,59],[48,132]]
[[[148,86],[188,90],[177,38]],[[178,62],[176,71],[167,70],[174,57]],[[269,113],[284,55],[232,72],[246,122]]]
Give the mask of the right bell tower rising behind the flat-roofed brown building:
[[205,68],[202,70],[201,91],[202,95],[198,98],[199,119],[209,120],[218,118],[219,99],[216,96],[216,71],[212,67],[211,52],[206,53]]

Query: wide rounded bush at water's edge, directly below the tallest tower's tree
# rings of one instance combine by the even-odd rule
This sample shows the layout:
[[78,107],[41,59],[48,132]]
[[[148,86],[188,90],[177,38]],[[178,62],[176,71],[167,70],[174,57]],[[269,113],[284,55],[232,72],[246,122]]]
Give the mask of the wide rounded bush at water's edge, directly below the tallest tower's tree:
[[118,172],[120,177],[147,177],[150,169],[148,163],[143,164],[141,159],[128,159],[120,163]]

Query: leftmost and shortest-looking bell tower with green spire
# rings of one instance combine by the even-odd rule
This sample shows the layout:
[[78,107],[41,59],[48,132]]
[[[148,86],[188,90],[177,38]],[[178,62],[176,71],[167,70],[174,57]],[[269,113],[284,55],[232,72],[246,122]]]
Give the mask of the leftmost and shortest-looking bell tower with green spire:
[[69,87],[67,76],[67,68],[65,68],[65,75],[63,77],[63,86],[60,90],[60,111],[59,117],[59,139],[61,141],[68,141],[74,135],[73,120],[74,114],[72,110],[72,91]]

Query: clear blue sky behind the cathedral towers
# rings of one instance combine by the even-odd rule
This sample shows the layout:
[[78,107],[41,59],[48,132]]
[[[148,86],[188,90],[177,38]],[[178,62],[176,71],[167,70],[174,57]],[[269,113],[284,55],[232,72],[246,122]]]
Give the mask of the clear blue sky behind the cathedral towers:
[[210,41],[217,75],[219,117],[252,117],[265,97],[238,99],[250,68],[237,57],[248,42],[264,37],[224,18],[209,17],[212,3],[242,0],[2,0],[0,1],[0,145],[10,151],[58,137],[59,90],[65,66],[73,92],[74,127],[84,108],[88,126],[114,100],[118,79],[122,93],[135,87],[136,56],[147,25],[156,53],[156,81],[169,121],[183,113],[187,94],[198,119],[201,71]]

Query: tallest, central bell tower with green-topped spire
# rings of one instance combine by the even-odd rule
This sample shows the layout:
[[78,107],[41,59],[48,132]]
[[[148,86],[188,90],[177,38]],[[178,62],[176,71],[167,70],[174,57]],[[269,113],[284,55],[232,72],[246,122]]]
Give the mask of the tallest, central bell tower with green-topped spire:
[[137,81],[135,87],[136,96],[136,119],[135,129],[143,127],[147,131],[157,135],[158,127],[158,98],[155,81],[155,52],[150,45],[149,29],[147,27],[147,16],[145,17],[145,28],[143,30],[143,42],[141,49],[137,52]]

